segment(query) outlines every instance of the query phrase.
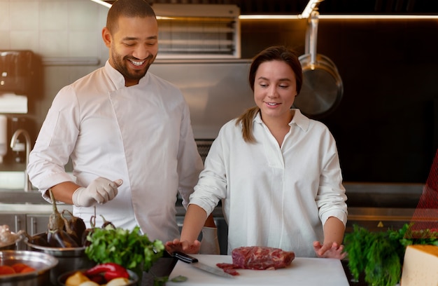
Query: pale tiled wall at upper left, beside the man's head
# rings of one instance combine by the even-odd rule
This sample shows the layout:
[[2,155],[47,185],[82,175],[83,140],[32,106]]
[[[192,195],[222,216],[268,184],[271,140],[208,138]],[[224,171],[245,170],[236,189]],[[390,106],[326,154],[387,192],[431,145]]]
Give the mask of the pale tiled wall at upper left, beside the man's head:
[[90,0],[0,0],[0,49],[29,49],[43,57],[100,57],[107,12]]

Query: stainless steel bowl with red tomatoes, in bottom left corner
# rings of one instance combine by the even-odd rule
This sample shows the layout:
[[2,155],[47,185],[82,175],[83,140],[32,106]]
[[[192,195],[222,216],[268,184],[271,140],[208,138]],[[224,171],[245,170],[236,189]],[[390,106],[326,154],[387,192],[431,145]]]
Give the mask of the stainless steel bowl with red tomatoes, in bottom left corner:
[[49,254],[27,250],[0,251],[0,265],[27,264],[36,270],[29,273],[0,275],[1,286],[47,286],[50,285],[50,270],[58,260]]

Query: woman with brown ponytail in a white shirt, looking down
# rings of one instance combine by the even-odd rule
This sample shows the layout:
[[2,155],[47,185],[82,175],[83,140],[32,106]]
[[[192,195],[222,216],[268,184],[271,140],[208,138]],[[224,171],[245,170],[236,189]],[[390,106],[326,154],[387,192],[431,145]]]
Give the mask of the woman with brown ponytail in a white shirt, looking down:
[[249,83],[256,107],[222,126],[190,196],[181,238],[167,242],[167,250],[197,253],[205,219],[222,200],[229,253],[257,245],[297,257],[344,258],[347,207],[337,147],[323,123],[291,109],[302,87],[295,52],[263,50]]

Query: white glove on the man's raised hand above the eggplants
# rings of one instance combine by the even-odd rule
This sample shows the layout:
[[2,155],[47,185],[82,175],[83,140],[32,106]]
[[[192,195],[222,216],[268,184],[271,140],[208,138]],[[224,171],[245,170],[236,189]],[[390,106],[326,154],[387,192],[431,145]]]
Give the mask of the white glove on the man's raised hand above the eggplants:
[[81,186],[74,191],[72,200],[76,207],[91,207],[96,203],[107,203],[115,198],[118,186],[123,183],[121,179],[114,182],[109,179],[99,177],[91,182],[86,188]]

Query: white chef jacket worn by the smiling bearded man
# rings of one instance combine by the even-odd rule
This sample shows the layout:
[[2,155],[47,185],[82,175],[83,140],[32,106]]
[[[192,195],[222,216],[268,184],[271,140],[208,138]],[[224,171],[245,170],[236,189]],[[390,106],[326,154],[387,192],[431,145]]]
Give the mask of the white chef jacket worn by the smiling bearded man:
[[[64,170],[69,157],[73,178]],[[96,205],[97,227],[103,215],[116,227],[139,225],[151,240],[167,241],[179,237],[178,192],[187,207],[202,168],[181,91],[150,72],[126,87],[107,61],[56,95],[27,170],[43,196],[62,182],[122,179],[118,195]],[[94,207],[74,206],[73,214],[90,226]]]

